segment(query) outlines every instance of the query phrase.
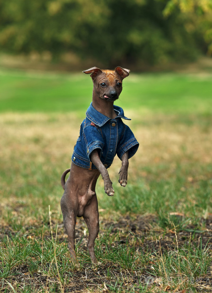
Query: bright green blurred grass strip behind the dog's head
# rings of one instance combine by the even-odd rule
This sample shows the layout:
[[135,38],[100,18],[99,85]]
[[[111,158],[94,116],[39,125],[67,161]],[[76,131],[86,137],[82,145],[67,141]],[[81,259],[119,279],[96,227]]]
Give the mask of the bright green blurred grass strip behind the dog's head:
[[[0,77],[1,112],[84,113],[91,101],[92,81],[83,73],[38,74],[4,70],[0,71]],[[210,74],[131,74],[123,86],[117,104],[124,109],[211,114]]]

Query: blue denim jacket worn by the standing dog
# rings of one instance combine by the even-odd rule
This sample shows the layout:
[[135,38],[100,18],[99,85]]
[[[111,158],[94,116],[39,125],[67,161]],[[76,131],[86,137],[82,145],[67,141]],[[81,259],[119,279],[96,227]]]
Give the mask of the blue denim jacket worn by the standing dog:
[[98,112],[90,104],[86,118],[80,126],[80,136],[74,147],[71,160],[77,166],[86,169],[97,169],[91,163],[90,155],[95,149],[99,150],[101,162],[109,168],[117,154],[121,159],[122,155],[128,151],[131,158],[137,151],[139,143],[134,137],[130,128],[125,125],[121,118],[131,120],[124,116],[121,107],[114,105],[117,113],[115,119],[111,119]]

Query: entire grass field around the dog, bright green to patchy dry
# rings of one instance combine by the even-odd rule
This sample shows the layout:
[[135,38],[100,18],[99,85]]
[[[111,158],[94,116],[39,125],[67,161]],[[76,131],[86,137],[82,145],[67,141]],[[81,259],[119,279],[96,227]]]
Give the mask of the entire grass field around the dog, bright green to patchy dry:
[[131,74],[116,104],[140,143],[98,179],[98,265],[77,220],[70,262],[60,198],[91,102],[83,73],[0,71],[1,292],[211,292],[212,75]]

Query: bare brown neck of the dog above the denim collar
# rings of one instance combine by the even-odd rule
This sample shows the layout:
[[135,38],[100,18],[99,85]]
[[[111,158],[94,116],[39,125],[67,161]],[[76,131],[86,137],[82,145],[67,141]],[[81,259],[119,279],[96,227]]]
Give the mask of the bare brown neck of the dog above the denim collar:
[[114,103],[113,101],[102,100],[93,91],[92,106],[98,112],[100,112],[101,114],[111,119],[115,119],[115,117],[117,116],[113,108],[113,103]]

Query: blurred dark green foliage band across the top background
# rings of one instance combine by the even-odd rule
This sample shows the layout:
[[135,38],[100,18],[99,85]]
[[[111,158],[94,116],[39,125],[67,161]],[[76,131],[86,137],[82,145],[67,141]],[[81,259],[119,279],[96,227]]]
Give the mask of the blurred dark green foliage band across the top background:
[[48,52],[53,58],[71,51],[82,59],[92,58],[112,67],[137,64],[141,68],[145,64],[192,60],[210,44],[210,6],[207,10],[197,7],[199,21],[196,12],[179,9],[176,3],[1,0],[0,50]]

